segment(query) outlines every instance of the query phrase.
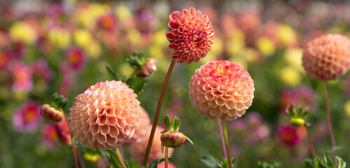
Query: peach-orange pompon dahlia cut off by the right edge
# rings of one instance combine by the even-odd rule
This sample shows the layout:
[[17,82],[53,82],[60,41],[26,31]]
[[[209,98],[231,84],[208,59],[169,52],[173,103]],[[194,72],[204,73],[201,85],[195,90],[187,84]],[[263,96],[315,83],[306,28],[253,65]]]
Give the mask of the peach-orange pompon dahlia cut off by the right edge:
[[350,67],[349,38],[327,34],[307,43],[302,66],[312,78],[332,80],[342,76]]

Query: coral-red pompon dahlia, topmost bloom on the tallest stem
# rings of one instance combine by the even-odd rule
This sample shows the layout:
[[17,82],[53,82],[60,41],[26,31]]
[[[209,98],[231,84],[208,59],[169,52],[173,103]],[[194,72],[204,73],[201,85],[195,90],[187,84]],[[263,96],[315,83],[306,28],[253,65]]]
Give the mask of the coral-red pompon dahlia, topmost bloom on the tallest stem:
[[214,41],[214,29],[207,15],[194,8],[184,9],[182,13],[173,12],[170,16],[167,38],[169,48],[174,50],[172,59],[176,62],[198,62],[205,57]]

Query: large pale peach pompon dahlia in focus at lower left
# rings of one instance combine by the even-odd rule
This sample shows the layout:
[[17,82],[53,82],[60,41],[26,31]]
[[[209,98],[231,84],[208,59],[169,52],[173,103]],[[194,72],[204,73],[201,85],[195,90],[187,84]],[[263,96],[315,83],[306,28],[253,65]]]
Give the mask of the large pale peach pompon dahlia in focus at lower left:
[[87,148],[111,150],[129,140],[140,124],[137,94],[121,81],[97,83],[76,99],[70,109],[71,131]]

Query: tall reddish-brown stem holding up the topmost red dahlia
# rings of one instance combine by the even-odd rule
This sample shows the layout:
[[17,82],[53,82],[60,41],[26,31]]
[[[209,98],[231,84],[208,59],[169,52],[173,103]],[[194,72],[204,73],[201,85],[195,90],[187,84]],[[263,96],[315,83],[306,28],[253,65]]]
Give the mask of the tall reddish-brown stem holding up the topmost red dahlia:
[[145,158],[144,158],[144,166],[148,166],[148,158],[150,156],[150,152],[151,152],[151,148],[152,148],[153,137],[155,134],[155,128],[157,127],[157,124],[158,124],[158,119],[160,116],[160,109],[162,109],[165,91],[167,90],[169,79],[170,79],[170,76],[172,75],[172,71],[174,69],[175,63],[176,63],[176,61],[174,59],[172,59],[172,63],[170,63],[170,66],[169,66],[169,69],[167,72],[167,76],[165,76],[165,80],[164,80],[163,87],[162,87],[162,92],[160,92],[160,97],[159,97],[159,101],[158,101],[157,110],[155,111],[155,116],[154,116],[154,120],[153,120],[151,134],[150,134],[150,137],[148,139],[148,145],[147,145]]

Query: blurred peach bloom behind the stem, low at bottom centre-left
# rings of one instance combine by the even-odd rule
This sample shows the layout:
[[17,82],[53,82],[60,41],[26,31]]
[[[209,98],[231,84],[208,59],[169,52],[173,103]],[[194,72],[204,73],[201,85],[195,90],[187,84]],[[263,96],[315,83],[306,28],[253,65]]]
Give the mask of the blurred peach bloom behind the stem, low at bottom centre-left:
[[[162,153],[162,141],[160,141],[160,135],[161,135],[160,132],[162,131],[163,130],[161,127],[157,127],[155,129],[155,135],[153,138],[152,148],[149,155],[150,162],[159,158],[164,158],[164,154]],[[146,137],[149,137],[150,134],[151,134],[151,129],[148,130],[148,135]],[[141,143],[132,144],[130,146],[130,155],[140,165],[144,162],[144,157],[145,157],[144,155],[146,153],[147,144],[148,144],[148,139],[146,138]],[[174,149],[169,148],[169,153],[168,153],[169,157],[172,157],[173,152],[174,152]]]

